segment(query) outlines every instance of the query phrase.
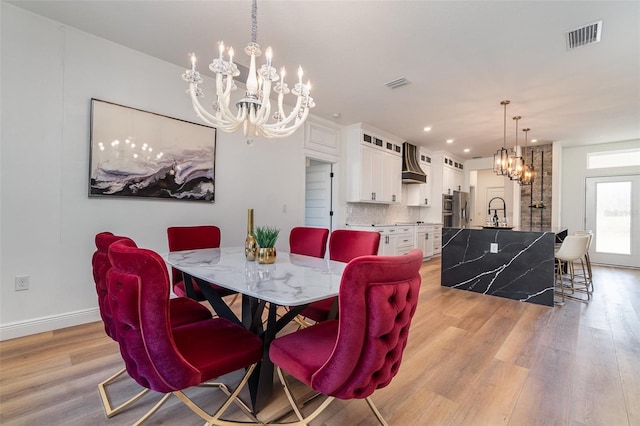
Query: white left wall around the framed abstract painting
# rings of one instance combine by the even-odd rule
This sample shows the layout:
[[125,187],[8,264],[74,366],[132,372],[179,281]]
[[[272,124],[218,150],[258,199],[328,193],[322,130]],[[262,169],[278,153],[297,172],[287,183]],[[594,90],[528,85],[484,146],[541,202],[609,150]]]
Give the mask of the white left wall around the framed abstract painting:
[[[218,132],[213,204],[90,199],[90,99],[197,122],[184,69],[1,7],[1,339],[99,318],[91,255],[104,230],[166,251],[168,226],[211,223],[222,244],[240,245],[253,207],[256,225],[279,226],[288,248],[289,229],[304,223],[302,130],[254,146]],[[29,290],[14,291],[16,275],[30,276]]]

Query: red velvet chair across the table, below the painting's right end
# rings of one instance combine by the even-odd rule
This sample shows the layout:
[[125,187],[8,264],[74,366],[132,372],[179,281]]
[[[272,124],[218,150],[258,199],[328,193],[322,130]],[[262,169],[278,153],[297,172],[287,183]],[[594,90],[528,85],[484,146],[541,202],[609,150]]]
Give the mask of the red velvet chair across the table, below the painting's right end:
[[[220,228],[213,225],[172,226],[167,228],[167,240],[169,242],[169,251],[218,248],[220,247]],[[182,272],[171,268],[171,282],[175,294],[182,297],[187,296],[184,281],[182,280]],[[221,297],[231,294],[237,295],[235,291],[217,286],[213,283],[211,287],[213,287]],[[197,283],[193,283],[193,288],[196,292],[196,300],[206,300]],[[231,303],[233,303],[233,301]]]

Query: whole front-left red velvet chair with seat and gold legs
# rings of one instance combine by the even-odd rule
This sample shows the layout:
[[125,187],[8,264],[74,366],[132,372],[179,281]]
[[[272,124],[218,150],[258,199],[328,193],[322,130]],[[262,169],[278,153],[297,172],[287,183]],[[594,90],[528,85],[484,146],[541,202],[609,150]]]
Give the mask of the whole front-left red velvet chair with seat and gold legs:
[[[210,318],[171,327],[169,275],[162,258],[151,250],[116,242],[109,247],[113,267],[107,274],[108,298],[120,353],[129,375],[141,386],[176,395],[207,424],[221,424],[221,415],[236,403],[252,421],[251,410],[238,398],[256,363],[262,358],[262,340],[241,325]],[[233,392],[209,380],[246,369]],[[228,398],[209,414],[183,390],[193,386],[221,388]],[[138,421],[147,420],[161,404]]]

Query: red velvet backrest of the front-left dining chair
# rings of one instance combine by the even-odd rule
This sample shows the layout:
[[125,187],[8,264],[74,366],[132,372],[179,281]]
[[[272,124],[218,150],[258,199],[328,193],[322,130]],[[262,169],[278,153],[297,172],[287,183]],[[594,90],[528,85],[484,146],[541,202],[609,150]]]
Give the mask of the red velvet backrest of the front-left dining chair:
[[109,248],[109,305],[127,372],[141,386],[168,393],[200,384],[178,351],[169,318],[169,275],[151,250],[118,241]]

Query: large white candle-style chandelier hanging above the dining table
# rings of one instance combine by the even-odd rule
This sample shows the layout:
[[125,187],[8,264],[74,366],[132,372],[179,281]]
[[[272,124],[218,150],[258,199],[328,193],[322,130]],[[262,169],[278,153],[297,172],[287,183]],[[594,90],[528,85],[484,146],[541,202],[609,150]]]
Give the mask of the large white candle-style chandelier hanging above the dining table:
[[[298,82],[293,89],[289,89],[284,82],[285,69],[280,70],[280,75],[271,66],[272,51],[267,47],[265,51],[266,63],[256,71],[256,57],[262,54],[257,40],[257,4],[253,0],[251,8],[251,42],[247,44],[244,51],[251,57],[249,65],[249,75],[246,81],[246,91],[244,98],[236,102],[236,112],[232,112],[229,103],[231,91],[236,89],[234,77],[240,75],[238,66],[233,63],[233,48],[229,48],[229,60],[223,59],[225,47],[222,42],[219,44],[219,56],[209,65],[209,69],[216,76],[216,102],[213,106],[213,113],[207,111],[198,98],[204,97],[200,88],[202,77],[196,71],[196,57],[191,54],[191,69],[186,70],[182,75],[185,81],[189,82],[187,93],[191,96],[193,109],[200,119],[207,124],[216,127],[224,132],[235,132],[242,128],[245,136],[248,136],[247,143],[253,143],[253,136],[263,136],[265,138],[281,138],[295,132],[309,115],[309,109],[315,106],[313,98],[309,96],[311,84],[307,81],[302,83],[302,67],[298,68]],[[277,93],[277,111],[271,115],[271,86]],[[284,95],[292,93],[297,97],[295,107],[285,114]],[[268,122],[273,118],[272,122]]]

